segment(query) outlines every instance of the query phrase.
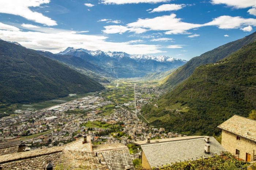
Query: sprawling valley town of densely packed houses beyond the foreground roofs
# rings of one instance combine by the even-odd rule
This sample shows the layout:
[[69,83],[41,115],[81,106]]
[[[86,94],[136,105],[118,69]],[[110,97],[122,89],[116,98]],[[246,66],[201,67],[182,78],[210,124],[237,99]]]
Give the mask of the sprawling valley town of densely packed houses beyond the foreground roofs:
[[[143,104],[159,95],[161,91],[155,88],[136,86],[137,112]],[[134,107],[134,100],[130,104]],[[38,111],[15,112],[19,112],[19,116],[0,119],[0,142],[23,141],[29,145],[27,150],[62,146],[81,138],[83,134],[90,134],[94,145],[128,145],[146,140],[149,133],[154,139],[181,136],[167,132],[164,128],[149,127],[134,110],[129,110],[127,103],[118,104],[98,94]],[[134,158],[139,158],[139,154],[134,155]]]

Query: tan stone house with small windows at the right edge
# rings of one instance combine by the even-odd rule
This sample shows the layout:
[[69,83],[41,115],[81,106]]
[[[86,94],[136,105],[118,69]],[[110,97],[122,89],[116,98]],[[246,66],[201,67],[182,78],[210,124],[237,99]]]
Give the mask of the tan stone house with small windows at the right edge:
[[227,151],[248,162],[256,160],[256,120],[234,115],[218,128]]

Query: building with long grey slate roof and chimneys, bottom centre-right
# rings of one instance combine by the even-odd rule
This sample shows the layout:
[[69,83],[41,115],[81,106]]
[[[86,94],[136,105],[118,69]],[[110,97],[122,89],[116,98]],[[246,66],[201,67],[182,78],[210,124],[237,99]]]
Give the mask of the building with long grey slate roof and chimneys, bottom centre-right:
[[205,136],[148,139],[133,143],[142,148],[142,167],[145,169],[214,157],[225,151],[214,137]]

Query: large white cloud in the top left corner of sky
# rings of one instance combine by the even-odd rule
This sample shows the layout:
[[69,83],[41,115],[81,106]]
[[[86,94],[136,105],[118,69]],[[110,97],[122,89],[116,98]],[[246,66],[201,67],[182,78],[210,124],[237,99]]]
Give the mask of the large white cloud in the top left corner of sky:
[[22,16],[28,20],[48,26],[57,25],[56,21],[42,15],[42,13],[34,12],[29,9],[29,7],[39,7],[41,4],[49,2],[50,0],[1,0],[0,13]]

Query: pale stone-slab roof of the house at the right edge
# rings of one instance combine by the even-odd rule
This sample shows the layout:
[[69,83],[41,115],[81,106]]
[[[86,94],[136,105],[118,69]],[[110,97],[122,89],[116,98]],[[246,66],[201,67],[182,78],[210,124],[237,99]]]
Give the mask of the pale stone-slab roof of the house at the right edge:
[[234,115],[218,128],[256,142],[256,120]]

